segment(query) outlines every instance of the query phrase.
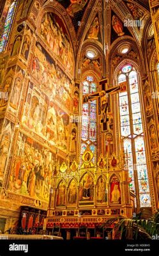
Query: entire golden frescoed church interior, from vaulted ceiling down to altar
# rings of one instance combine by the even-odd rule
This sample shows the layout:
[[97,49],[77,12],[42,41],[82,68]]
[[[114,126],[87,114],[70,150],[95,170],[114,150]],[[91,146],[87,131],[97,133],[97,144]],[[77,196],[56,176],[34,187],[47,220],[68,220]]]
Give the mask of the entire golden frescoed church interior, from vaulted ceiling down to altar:
[[1,233],[154,214],[158,1],[5,0],[0,24]]

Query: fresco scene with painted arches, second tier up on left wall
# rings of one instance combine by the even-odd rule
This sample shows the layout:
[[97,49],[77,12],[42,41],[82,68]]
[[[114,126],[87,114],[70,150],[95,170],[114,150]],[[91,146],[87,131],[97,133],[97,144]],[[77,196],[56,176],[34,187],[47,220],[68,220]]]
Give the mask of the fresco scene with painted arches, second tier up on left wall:
[[69,116],[29,83],[22,124],[66,152]]

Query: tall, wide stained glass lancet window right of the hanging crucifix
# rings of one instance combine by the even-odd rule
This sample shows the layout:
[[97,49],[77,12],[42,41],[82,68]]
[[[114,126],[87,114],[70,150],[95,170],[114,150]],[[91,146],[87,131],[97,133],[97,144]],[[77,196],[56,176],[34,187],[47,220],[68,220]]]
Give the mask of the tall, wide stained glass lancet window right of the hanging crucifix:
[[139,83],[137,72],[131,65],[123,67],[118,84],[126,82],[126,92],[119,93],[121,137],[128,163],[130,189],[138,196],[140,207],[151,206],[146,148],[142,125]]

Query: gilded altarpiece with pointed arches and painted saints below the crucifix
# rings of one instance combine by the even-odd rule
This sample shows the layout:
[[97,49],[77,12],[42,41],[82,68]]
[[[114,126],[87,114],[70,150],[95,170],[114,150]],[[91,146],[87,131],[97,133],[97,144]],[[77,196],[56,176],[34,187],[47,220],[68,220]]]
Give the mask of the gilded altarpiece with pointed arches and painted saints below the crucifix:
[[59,223],[61,228],[95,227],[110,216],[131,216],[123,154],[120,159],[114,154],[107,159],[101,155],[96,165],[92,160],[93,152],[87,147],[82,166],[75,160],[61,164],[52,184],[48,228]]

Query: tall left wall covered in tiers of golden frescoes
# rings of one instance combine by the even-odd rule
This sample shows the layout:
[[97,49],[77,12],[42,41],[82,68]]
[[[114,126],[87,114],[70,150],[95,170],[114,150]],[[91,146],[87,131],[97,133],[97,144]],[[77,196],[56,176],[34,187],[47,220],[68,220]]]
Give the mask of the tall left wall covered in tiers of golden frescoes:
[[16,194],[19,202],[48,204],[52,175],[70,150],[73,47],[63,21],[50,12],[38,32],[19,25],[12,42],[9,63],[8,56],[0,58],[6,74],[0,74],[0,88],[8,96],[0,99],[0,110],[13,120],[1,124],[0,187],[4,198]]

